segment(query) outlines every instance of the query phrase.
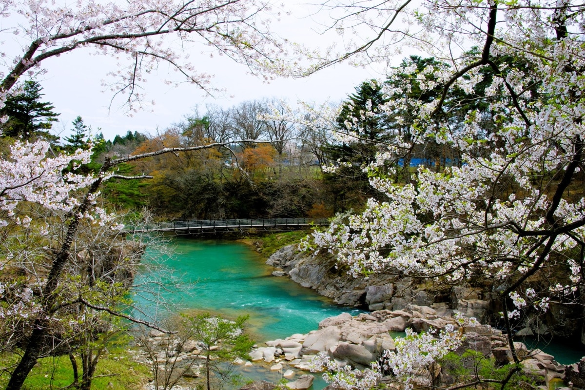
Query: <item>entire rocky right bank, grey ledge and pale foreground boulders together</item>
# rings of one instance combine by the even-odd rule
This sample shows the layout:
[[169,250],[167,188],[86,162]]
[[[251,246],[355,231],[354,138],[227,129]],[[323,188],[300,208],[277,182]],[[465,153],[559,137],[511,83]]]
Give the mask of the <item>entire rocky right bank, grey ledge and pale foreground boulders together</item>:
[[[296,245],[276,251],[266,262],[276,268],[273,275],[289,277],[298,284],[312,288],[340,305],[371,310],[357,317],[343,314],[328,318],[319,329],[308,334],[295,334],[286,339],[267,342],[267,347],[250,353],[253,361],[263,361],[278,369],[291,366],[307,370],[311,359],[324,352],[340,364],[366,367],[377,360],[383,350],[393,350],[392,332],[403,332],[407,327],[415,332],[444,329],[456,325],[456,313],[475,317],[481,324],[497,323],[495,313],[501,311],[497,294],[490,285],[437,286],[428,281],[390,274],[374,274],[353,278],[343,272],[331,257],[312,257],[298,250]],[[545,316],[529,316],[518,323],[516,334],[554,334],[562,337],[585,338],[580,308],[562,302],[551,305]],[[495,367],[511,363],[510,344],[501,330],[490,325],[464,327],[465,341],[458,352],[471,350],[491,359]],[[541,388],[556,388],[564,379],[572,388],[585,388],[585,358],[579,364],[564,366],[550,354],[539,349],[530,350],[518,341],[515,350],[522,359],[526,375],[534,375]],[[274,366],[273,366],[274,367]],[[421,368],[419,385],[426,386],[438,380],[442,385],[453,384],[453,378],[443,370],[428,372]]]

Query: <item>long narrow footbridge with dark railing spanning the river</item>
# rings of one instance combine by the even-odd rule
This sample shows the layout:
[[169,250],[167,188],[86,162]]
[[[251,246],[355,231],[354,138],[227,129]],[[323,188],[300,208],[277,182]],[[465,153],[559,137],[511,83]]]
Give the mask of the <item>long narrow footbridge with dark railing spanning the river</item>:
[[275,219],[194,219],[173,220],[168,222],[146,223],[126,226],[130,232],[154,232],[169,230],[237,229],[242,227],[295,227],[309,225],[329,225],[326,218],[275,218]]

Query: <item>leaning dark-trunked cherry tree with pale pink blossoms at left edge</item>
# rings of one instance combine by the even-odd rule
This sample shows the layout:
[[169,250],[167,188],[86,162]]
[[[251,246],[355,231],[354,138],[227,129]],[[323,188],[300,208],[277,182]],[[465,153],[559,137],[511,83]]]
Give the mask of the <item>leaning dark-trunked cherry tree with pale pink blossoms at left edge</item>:
[[[63,320],[60,317],[63,309],[85,307],[164,331],[156,324],[131,317],[115,306],[100,304],[99,300],[95,302],[87,298],[88,294],[94,298],[99,294],[88,288],[87,285],[91,285],[89,282],[76,284],[79,282],[78,279],[83,279],[82,273],[95,263],[90,261],[90,264],[84,264],[83,258],[74,256],[80,226],[95,223],[98,226],[108,226],[113,232],[123,228],[123,225],[114,222],[115,215],[110,215],[97,205],[99,186],[112,177],[125,179],[147,177],[143,175],[123,177],[110,172],[116,165],[165,153],[227,147],[227,144],[164,148],[115,160],[106,158],[95,177],[91,174],[74,173],[80,164],[90,162],[91,148],[78,149],[71,155],[49,157],[47,153],[49,147],[46,141],[36,143],[15,141],[8,156],[0,160],[0,234],[4,244],[0,269],[4,270],[8,277],[0,280],[0,298],[7,303],[6,306],[0,306],[0,319],[4,328],[0,336],[6,341],[6,344],[3,344],[8,345],[16,334],[26,334],[26,348],[18,365],[12,371],[6,387],[8,389],[22,387],[37,358],[46,349],[51,331],[54,330],[56,323]],[[63,173],[65,168],[66,174]],[[56,234],[54,226],[51,226],[55,217],[47,216],[46,212],[64,213],[64,223],[58,226],[61,229],[60,233]],[[13,244],[12,236],[20,233],[32,239],[24,244]],[[8,237],[11,237],[11,240],[8,240]],[[90,256],[89,260],[91,258]],[[10,278],[21,268],[25,275],[33,274],[35,277],[32,280],[30,277],[25,277],[24,280]],[[46,272],[43,274],[28,272],[38,268],[45,268]],[[71,272],[76,269],[78,272]],[[122,294],[121,288],[114,287],[117,282],[113,280],[109,288],[112,294]],[[68,287],[71,283],[74,283],[73,287]],[[36,291],[33,291],[33,288]],[[108,291],[107,286],[105,290]],[[115,302],[116,299],[111,301]],[[67,321],[66,318],[64,320]]]

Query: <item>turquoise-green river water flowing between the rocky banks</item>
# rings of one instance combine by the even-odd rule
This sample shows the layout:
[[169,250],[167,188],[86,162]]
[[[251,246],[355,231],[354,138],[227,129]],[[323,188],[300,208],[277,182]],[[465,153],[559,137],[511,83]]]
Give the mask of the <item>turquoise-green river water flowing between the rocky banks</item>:
[[[294,333],[308,333],[317,329],[326,317],[360,312],[336,306],[286,277],[273,277],[274,268],[264,264],[264,259],[246,244],[173,237],[171,245],[174,256],[148,254],[166,268],[144,271],[137,277],[137,284],[159,279],[161,286],[171,287],[160,290],[157,303],[136,297],[146,314],[154,315],[154,308],[162,300],[173,304],[172,312],[210,312],[228,318],[249,315],[246,330],[253,340],[262,343]],[[579,360],[583,354],[558,343],[541,348],[564,364]],[[280,379],[278,374],[261,369],[243,374],[274,382]],[[314,390],[324,386],[318,380]]]

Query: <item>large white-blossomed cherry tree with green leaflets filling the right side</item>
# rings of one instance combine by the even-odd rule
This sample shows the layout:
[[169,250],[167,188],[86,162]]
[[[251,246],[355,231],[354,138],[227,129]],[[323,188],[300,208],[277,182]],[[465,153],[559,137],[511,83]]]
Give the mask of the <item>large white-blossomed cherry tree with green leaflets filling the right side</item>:
[[[513,321],[553,302],[577,304],[584,292],[583,5],[570,0],[324,5],[338,16],[333,29],[356,34],[346,40],[346,51],[336,57],[324,53],[309,72],[343,60],[387,63],[407,46],[442,66],[401,73],[417,77],[411,85],[421,94],[440,93],[416,101],[411,90],[384,85],[391,98],[386,111],[407,107],[410,114],[409,139],[386,143],[377,160],[363,167],[384,199],[370,199],[363,213],[315,233],[305,247],[335,254],[353,275],[490,281],[518,362]],[[455,88],[466,97],[452,97],[462,96],[450,93]],[[400,116],[393,118],[401,123]],[[349,120],[339,139],[358,142],[352,122],[359,119]],[[315,126],[331,120],[322,118]],[[398,185],[397,162],[429,139],[456,150],[459,160],[446,167],[421,165],[408,184]]]

